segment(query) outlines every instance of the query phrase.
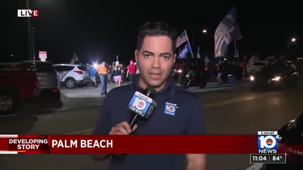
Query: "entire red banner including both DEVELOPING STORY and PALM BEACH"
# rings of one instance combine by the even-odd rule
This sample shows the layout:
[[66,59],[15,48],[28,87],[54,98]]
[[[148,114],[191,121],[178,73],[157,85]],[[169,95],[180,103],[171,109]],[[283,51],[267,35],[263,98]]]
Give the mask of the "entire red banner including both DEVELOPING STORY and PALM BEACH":
[[258,150],[257,134],[0,135],[1,154],[257,154]]

